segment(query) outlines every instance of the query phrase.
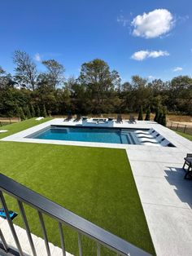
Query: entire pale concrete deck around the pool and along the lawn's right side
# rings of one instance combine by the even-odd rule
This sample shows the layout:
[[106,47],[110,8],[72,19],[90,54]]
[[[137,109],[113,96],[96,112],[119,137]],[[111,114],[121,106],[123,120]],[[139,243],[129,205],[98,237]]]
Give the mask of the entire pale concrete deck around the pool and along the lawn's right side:
[[[89,147],[124,148],[133,170],[146,221],[157,255],[192,255],[192,180],[185,180],[183,157],[192,152],[192,142],[174,131],[151,121],[115,124],[120,128],[150,129],[173,143],[176,148],[129,144],[84,143],[46,139],[26,139],[50,125],[76,125],[55,119],[1,139],[28,143],[53,143]],[[78,123],[81,124],[81,123]]]

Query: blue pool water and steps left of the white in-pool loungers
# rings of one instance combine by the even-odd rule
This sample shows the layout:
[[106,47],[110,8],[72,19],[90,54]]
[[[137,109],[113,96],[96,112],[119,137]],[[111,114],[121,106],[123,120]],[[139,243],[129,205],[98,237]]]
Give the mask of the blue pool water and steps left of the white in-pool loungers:
[[134,143],[133,131],[107,128],[80,128],[50,126],[28,136],[33,139],[57,139],[98,143]]

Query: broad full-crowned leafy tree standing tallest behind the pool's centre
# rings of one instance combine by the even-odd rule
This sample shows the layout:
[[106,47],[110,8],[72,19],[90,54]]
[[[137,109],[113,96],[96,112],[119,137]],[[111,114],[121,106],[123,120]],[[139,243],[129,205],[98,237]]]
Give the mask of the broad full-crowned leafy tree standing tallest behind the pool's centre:
[[110,99],[114,90],[120,87],[120,76],[115,70],[110,71],[105,61],[95,59],[81,65],[78,82],[85,86],[86,101],[91,104],[91,112],[102,113],[106,108],[111,108],[108,104],[112,104]]

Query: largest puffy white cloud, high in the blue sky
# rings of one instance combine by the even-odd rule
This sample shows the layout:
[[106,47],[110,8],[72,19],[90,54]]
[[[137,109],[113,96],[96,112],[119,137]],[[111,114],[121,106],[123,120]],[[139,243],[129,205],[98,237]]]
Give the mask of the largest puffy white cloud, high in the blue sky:
[[173,15],[166,9],[144,12],[143,15],[137,15],[131,23],[133,35],[142,38],[157,38],[168,33],[173,24]]

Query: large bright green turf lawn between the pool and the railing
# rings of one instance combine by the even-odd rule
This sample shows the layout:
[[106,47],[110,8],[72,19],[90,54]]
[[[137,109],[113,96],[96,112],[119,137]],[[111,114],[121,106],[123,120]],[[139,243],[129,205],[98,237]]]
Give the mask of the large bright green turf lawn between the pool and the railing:
[[[15,130],[34,124],[25,121]],[[10,127],[11,127],[10,126]],[[14,132],[10,129],[10,132]],[[0,141],[0,172],[124,240],[155,254],[126,152],[122,149]],[[7,196],[8,206],[18,211]],[[25,207],[33,233],[41,236],[37,212]],[[59,245],[57,223],[45,218],[49,240]],[[20,214],[14,223],[22,226]],[[68,252],[77,255],[77,234],[63,228]],[[95,255],[83,239],[85,255]],[[102,255],[113,255],[103,251]]]

